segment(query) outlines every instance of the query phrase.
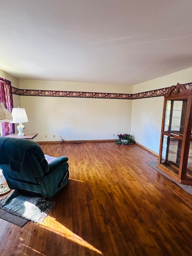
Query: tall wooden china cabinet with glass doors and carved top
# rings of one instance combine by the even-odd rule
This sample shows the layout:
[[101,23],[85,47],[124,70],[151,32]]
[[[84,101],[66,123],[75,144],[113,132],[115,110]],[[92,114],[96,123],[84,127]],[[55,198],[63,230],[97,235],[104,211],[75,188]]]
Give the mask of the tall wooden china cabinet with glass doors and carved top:
[[164,95],[158,169],[192,185],[192,89],[177,83]]

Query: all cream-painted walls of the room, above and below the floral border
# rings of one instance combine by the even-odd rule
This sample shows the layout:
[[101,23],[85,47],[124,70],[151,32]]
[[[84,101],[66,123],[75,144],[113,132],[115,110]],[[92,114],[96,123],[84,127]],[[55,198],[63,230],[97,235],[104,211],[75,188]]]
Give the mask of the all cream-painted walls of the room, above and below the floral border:
[[[97,83],[18,80],[0,70],[0,76],[21,89],[138,93],[192,82],[192,68],[129,87]],[[29,118],[27,133],[36,141],[117,139],[131,133],[141,145],[158,153],[164,97],[138,100],[59,98],[13,95],[14,107],[24,107]],[[55,134],[55,138],[53,135]],[[113,137],[115,134],[115,137]],[[47,138],[45,138],[47,135]]]

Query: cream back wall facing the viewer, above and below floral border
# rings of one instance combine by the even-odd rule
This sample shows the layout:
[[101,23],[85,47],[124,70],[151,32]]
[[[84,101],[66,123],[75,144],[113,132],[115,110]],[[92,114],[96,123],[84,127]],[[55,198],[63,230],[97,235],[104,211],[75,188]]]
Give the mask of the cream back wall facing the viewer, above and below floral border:
[[[20,80],[20,88],[133,93],[125,85],[40,80]],[[65,140],[110,140],[131,132],[132,100],[21,96],[21,106],[29,119],[25,131],[37,132],[36,141],[57,141],[59,135]]]

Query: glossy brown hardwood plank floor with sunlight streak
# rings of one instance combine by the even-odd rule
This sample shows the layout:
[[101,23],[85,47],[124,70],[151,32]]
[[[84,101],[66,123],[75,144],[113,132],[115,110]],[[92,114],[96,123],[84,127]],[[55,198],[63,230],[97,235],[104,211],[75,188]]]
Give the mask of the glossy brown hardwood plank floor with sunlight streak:
[[158,158],[114,142],[41,144],[69,158],[70,182],[40,225],[0,219],[5,255],[192,255],[192,195],[147,161]]

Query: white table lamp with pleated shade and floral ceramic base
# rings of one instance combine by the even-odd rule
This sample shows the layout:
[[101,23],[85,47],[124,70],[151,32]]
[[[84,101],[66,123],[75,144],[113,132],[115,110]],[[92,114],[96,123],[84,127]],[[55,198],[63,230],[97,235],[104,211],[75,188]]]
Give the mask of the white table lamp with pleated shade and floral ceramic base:
[[25,126],[22,123],[26,123],[29,122],[28,118],[27,118],[27,114],[24,108],[13,108],[12,110],[12,116],[13,116],[13,121],[11,123],[19,123],[19,125],[17,126],[17,129],[19,131],[19,133],[17,134],[17,136],[24,136],[24,128]]

